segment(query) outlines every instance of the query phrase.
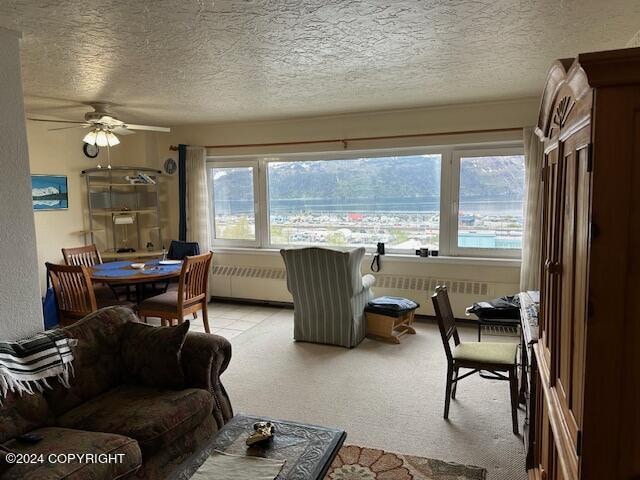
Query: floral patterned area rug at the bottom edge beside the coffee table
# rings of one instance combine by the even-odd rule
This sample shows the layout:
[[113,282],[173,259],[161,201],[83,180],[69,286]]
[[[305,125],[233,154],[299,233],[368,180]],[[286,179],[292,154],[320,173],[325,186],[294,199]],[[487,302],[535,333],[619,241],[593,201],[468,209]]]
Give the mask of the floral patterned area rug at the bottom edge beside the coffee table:
[[484,468],[344,445],[325,480],[485,480]]

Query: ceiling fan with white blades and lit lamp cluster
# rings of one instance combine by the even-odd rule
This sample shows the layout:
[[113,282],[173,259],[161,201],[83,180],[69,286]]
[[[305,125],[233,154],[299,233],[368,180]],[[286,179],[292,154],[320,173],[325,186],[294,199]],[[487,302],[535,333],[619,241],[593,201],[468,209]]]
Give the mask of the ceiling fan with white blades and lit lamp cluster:
[[92,128],[83,138],[85,143],[90,145],[114,146],[120,143],[116,135],[131,135],[135,133],[135,130],[144,130],[151,132],[170,132],[171,129],[167,127],[156,127],[151,125],[137,125],[133,123],[125,123],[119,120],[109,112],[109,104],[105,102],[94,102],[89,104],[93,108],[93,112],[87,112],[84,114],[84,122],[76,122],[72,120],[47,120],[43,118],[29,118],[36,122],[50,122],[50,123],[73,123],[71,127],[57,127],[50,128],[53,130],[65,130],[68,128]]

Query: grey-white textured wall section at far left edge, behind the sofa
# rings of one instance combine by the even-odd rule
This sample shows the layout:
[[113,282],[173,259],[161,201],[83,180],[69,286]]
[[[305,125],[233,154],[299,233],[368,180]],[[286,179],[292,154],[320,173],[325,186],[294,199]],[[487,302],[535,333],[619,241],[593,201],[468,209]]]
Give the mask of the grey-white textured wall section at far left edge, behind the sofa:
[[0,340],[42,330],[19,34],[0,28]]

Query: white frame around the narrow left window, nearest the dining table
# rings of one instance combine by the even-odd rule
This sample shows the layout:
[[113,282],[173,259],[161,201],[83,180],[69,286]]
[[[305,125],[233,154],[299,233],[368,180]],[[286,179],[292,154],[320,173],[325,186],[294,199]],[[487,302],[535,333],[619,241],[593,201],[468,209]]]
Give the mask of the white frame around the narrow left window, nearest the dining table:
[[260,165],[258,160],[246,159],[246,160],[210,160],[207,159],[207,184],[209,187],[213,186],[213,177],[211,172],[214,168],[251,168],[253,172],[253,214],[255,222],[255,240],[245,239],[232,239],[232,238],[217,238],[216,237],[216,212],[215,201],[213,196],[209,196],[209,225],[211,225],[211,243],[213,246],[225,246],[225,247],[254,247],[258,248],[261,243],[262,228],[262,215],[260,214]]

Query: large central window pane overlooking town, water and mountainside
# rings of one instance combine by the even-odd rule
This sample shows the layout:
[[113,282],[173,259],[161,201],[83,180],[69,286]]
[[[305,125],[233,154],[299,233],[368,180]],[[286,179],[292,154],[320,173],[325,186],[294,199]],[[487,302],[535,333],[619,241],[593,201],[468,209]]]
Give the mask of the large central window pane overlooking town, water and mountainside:
[[269,162],[271,244],[438,248],[440,159]]

